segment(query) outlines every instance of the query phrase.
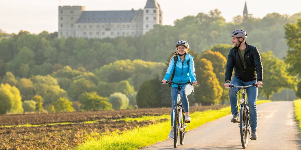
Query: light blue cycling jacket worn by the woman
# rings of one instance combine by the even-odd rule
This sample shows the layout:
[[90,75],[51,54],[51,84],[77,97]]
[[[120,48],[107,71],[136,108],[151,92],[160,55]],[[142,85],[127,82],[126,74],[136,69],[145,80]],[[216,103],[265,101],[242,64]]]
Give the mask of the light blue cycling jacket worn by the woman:
[[[188,81],[191,82],[196,81],[197,79],[195,78],[195,73],[194,73],[194,61],[193,61],[194,57],[191,56],[190,54],[186,54],[185,61],[183,63],[180,59],[180,56],[178,55],[177,57],[178,57],[178,61],[176,66],[175,66],[175,58],[172,58],[163,79],[169,80],[169,78],[172,76],[173,69],[175,68],[175,76],[172,82],[185,83]],[[190,60],[189,67],[187,65],[188,60]],[[178,87],[178,85],[172,84],[172,87]]]

